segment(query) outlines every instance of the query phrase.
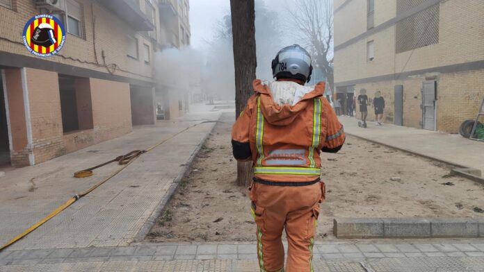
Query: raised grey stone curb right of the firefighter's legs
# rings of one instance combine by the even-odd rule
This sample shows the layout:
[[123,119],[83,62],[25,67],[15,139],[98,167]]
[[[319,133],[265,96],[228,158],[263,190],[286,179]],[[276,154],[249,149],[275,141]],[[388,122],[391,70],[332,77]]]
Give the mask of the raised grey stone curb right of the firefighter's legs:
[[469,238],[484,237],[484,216],[476,218],[339,218],[337,238]]

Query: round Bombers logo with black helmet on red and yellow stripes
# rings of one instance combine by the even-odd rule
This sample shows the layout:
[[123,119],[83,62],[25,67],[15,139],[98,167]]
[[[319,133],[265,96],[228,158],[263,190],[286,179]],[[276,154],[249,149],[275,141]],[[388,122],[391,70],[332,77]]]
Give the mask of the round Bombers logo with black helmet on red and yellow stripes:
[[38,57],[54,56],[65,42],[62,22],[51,15],[36,15],[24,27],[24,44]]

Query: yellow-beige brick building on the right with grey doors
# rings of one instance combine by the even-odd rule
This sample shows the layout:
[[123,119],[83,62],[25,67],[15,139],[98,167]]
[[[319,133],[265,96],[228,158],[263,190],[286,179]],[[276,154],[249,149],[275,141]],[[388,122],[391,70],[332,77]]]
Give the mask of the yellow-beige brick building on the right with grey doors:
[[483,18],[481,0],[334,0],[337,95],[380,91],[387,122],[458,133],[484,99]]

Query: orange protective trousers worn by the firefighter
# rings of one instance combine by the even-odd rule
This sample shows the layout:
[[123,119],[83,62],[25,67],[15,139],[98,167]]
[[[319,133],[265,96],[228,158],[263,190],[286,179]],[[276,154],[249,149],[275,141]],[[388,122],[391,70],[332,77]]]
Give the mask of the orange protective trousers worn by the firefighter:
[[313,271],[312,248],[319,203],[325,197],[324,182],[297,187],[253,182],[249,189],[252,216],[257,223],[260,271],[284,271],[284,228],[288,242],[285,271]]

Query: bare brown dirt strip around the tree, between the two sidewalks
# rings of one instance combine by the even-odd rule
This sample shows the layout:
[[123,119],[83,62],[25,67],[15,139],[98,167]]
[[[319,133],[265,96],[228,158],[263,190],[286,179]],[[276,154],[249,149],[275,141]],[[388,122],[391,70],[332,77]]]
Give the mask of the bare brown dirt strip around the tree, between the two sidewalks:
[[[247,188],[235,185],[233,120],[233,114],[220,119],[147,240],[255,240]],[[333,237],[334,217],[482,216],[484,186],[449,175],[442,162],[355,137],[339,153],[322,157],[327,195],[318,238]]]

